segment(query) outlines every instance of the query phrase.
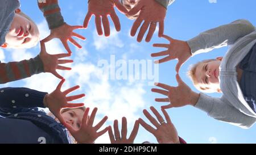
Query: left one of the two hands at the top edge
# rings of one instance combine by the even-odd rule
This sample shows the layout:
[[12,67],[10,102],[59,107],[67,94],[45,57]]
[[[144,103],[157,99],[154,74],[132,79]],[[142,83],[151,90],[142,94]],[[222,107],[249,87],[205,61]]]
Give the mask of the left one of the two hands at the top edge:
[[[114,2],[113,2],[114,1]],[[87,28],[90,18],[92,15],[95,15],[95,24],[98,35],[102,35],[102,27],[101,27],[101,20],[104,27],[105,36],[110,36],[110,27],[109,27],[109,20],[108,15],[112,18],[115,30],[120,31],[121,26],[118,19],[117,14],[115,14],[114,6],[122,12],[123,14],[127,14],[127,10],[123,5],[119,2],[119,0],[89,0],[88,1],[88,12],[84,19],[84,27]],[[102,18],[102,19],[101,19]]]

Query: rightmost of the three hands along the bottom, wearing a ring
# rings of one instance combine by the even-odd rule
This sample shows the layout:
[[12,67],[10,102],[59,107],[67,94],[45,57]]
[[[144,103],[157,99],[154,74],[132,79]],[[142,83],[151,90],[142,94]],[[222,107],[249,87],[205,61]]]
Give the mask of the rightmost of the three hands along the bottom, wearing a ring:
[[165,121],[154,107],[150,107],[150,109],[156,116],[157,120],[152,115],[150,115],[147,110],[143,110],[143,114],[156,127],[156,129],[154,127],[151,127],[151,125],[147,124],[146,122],[144,122],[143,119],[140,118],[139,123],[142,125],[142,127],[144,127],[148,132],[152,133],[156,137],[156,140],[159,144],[180,143],[177,130],[174,127],[174,124],[172,124],[166,110],[164,110],[163,108],[161,109],[164,117],[166,118]]

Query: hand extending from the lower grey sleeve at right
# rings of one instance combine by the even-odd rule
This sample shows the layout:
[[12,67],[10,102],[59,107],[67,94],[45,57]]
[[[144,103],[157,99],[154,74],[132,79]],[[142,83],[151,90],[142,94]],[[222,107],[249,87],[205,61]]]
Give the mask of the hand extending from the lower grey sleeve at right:
[[200,94],[195,93],[187,86],[180,78],[179,74],[176,74],[176,80],[178,82],[177,87],[172,87],[165,85],[163,83],[156,83],[155,85],[161,87],[162,89],[151,89],[152,92],[166,95],[168,98],[156,98],[156,102],[170,102],[162,108],[172,108],[172,107],[183,107],[187,105],[195,106]]

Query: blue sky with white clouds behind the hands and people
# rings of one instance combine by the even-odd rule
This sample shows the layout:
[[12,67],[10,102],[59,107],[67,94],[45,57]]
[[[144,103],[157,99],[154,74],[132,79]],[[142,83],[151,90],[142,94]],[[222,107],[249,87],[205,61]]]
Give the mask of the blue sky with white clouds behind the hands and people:
[[[46,37],[49,30],[36,1],[28,3],[28,1],[21,0],[20,3],[22,4],[22,11],[31,16],[39,25],[42,39]],[[87,12],[87,1],[74,0],[60,1],[59,3],[65,22],[71,25],[82,25]],[[188,40],[202,31],[237,19],[247,19],[256,25],[255,5],[256,1],[253,0],[217,0],[216,3],[210,3],[208,0],[176,0],[168,7],[164,33],[175,39]],[[122,116],[126,116],[130,132],[135,119],[139,117],[144,119],[142,113],[144,108],[149,110],[150,106],[155,106],[160,110],[160,106],[163,104],[155,102],[154,98],[162,96],[151,93],[152,86],[148,86],[148,80],[104,78],[101,74],[102,69],[97,66],[97,63],[100,60],[110,61],[110,55],[114,55],[116,60],[152,60],[151,53],[163,51],[161,48],[152,47],[152,44],[168,43],[168,41],[158,38],[157,33],[155,33],[150,43],[145,41],[137,43],[136,37],[129,35],[133,21],[119,12],[117,14],[121,21],[121,32],[115,32],[113,23],[110,22],[112,31],[111,36],[108,38],[97,36],[94,18],[92,18],[86,30],[76,31],[86,37],[86,41],[80,41],[83,49],[77,50],[71,45],[70,47],[72,47],[73,51],[72,59],[75,60],[70,65],[73,69],[70,72],[59,73],[68,81],[65,83],[64,89],[79,84],[81,89],[77,93],[86,94],[86,98],[82,99],[81,102],[84,102],[86,106],[99,108],[97,120],[104,115],[108,115],[109,121],[107,125],[109,125],[113,124],[114,119],[121,121]],[[46,46],[49,53],[65,52],[59,40],[52,40]],[[216,49],[212,52],[192,57],[180,70],[180,76],[183,81],[198,92],[186,76],[188,66],[204,59],[224,56],[227,49],[228,47]],[[20,61],[23,58],[38,55],[39,51],[39,46],[26,50],[0,49],[0,58],[4,62]],[[177,85],[175,79],[176,62],[176,60],[173,60],[159,65],[159,82],[171,86]],[[22,81],[7,83],[2,87],[29,87],[51,92],[58,82],[59,79],[56,79],[51,74],[39,74]],[[213,97],[221,96],[221,94],[209,95]],[[175,124],[179,136],[183,137],[188,143],[256,143],[255,125],[250,129],[242,129],[209,118],[205,112],[191,106],[172,108],[167,112]],[[146,132],[141,126],[135,143],[142,143],[143,141],[157,143],[155,137]],[[96,142],[109,143],[108,134],[100,137]]]

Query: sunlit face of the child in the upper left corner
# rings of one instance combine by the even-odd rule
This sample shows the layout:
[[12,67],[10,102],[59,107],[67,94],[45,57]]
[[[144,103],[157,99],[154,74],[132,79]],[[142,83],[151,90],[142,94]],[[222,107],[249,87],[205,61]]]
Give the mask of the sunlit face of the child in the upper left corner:
[[30,48],[39,40],[38,27],[26,17],[15,14],[10,31],[6,37],[7,47]]

